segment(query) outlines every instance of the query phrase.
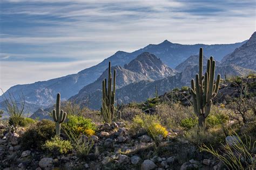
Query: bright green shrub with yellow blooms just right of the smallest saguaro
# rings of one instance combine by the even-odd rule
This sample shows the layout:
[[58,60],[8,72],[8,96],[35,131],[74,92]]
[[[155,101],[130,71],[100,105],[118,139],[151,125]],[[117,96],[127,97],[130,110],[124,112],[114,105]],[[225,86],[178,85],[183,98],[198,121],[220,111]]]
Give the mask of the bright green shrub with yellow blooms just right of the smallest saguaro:
[[69,114],[67,119],[68,121],[63,123],[63,128],[69,128],[74,133],[76,133],[77,136],[80,134],[95,134],[97,126],[92,123],[91,119],[72,114]]

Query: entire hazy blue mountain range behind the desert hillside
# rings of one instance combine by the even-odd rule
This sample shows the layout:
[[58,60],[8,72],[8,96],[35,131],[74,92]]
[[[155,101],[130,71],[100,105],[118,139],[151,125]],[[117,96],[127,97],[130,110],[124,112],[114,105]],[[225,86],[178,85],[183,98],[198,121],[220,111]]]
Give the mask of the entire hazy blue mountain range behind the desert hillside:
[[[16,85],[7,92],[16,97],[23,92],[26,103],[32,106],[31,111],[53,104],[58,92],[62,94],[63,100],[89,99],[91,108],[98,108],[98,104],[93,100],[97,99],[100,105],[102,80],[107,77],[106,68],[111,61],[112,70],[117,70],[117,98],[125,102],[140,101],[152,96],[155,85],[159,86],[160,93],[187,85],[197,70],[197,54],[200,47],[203,47],[206,58],[214,56],[214,59],[223,62],[221,65],[217,64],[217,73],[226,72],[241,76],[256,70],[255,37],[254,32],[248,42],[246,40],[241,43],[216,45],[182,45],[165,40],[163,43],[150,44],[131,53],[118,51],[98,65],[76,74],[33,84]],[[239,57],[241,55],[243,56]],[[177,71],[171,69],[174,67]],[[137,94],[131,90],[137,91]]]

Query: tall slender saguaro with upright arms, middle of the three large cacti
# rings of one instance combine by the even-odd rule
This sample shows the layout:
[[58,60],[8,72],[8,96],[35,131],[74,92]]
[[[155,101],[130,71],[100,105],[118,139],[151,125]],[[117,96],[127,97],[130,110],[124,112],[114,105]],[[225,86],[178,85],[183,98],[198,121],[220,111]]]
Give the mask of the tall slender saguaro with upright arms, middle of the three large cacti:
[[111,62],[109,62],[109,79],[102,81],[102,108],[100,112],[103,115],[106,123],[111,123],[114,118],[114,97],[116,95],[116,70],[113,75],[113,90],[112,90],[112,73]]

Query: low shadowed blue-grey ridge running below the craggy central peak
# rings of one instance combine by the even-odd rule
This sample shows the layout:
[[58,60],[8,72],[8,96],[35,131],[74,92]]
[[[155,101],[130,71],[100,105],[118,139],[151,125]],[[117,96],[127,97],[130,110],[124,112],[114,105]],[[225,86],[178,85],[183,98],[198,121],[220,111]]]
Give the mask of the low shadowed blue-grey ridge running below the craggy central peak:
[[[175,76],[166,77],[156,81],[142,80],[138,83],[131,83],[127,86],[121,87],[116,90],[116,99],[118,102],[124,104],[131,102],[142,102],[147,98],[152,98],[155,95],[155,87],[157,86],[158,94],[164,94],[176,87],[190,86],[190,81],[198,73],[198,65],[187,66],[183,72],[177,73]],[[204,71],[206,66],[204,66]],[[217,74],[221,74],[224,78],[226,73],[227,77],[231,76],[246,76],[252,73],[253,70],[244,69],[242,67],[230,64],[216,66],[215,77]],[[89,107],[92,109],[99,109],[101,106],[100,99],[102,97],[102,91],[98,90],[90,93],[88,96],[78,95],[75,100],[78,103],[89,103]]]

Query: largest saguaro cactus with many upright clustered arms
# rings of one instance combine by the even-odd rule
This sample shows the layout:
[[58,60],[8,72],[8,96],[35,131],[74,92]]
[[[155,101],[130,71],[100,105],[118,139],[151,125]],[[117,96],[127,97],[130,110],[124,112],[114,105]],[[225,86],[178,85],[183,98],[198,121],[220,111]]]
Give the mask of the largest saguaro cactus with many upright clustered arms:
[[193,97],[194,113],[198,115],[199,126],[204,126],[205,119],[209,115],[212,105],[212,98],[219,90],[220,74],[214,84],[215,60],[211,56],[207,60],[207,70],[203,76],[203,48],[199,52],[199,74],[196,74],[196,81],[191,80],[190,92]]

